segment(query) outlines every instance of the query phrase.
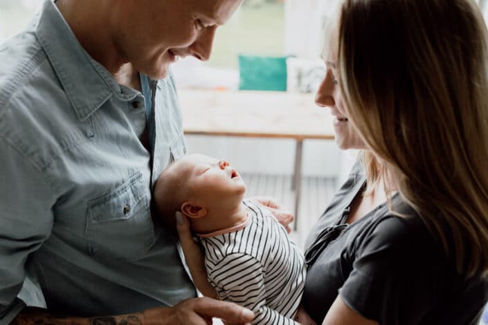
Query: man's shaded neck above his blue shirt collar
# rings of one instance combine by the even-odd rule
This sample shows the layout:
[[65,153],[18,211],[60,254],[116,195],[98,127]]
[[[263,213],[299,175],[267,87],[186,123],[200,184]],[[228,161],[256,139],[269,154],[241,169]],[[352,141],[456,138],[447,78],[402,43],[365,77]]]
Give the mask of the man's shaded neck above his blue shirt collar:
[[[55,5],[87,53],[114,75],[119,84],[140,89],[138,72],[124,59],[109,24],[109,1],[57,0]],[[93,6],[98,9],[93,10]]]

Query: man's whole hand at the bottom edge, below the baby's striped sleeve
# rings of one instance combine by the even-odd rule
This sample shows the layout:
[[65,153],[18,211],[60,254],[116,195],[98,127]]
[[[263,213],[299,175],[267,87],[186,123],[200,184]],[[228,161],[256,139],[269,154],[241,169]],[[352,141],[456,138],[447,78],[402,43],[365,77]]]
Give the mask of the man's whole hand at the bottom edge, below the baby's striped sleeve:
[[[208,297],[183,300],[176,306],[167,308],[167,310],[161,308],[148,309],[143,312],[143,315],[144,319],[156,321],[147,324],[212,324],[212,317],[220,318],[231,324],[248,324],[254,319],[251,310],[231,302]],[[158,320],[160,323],[157,322]]]

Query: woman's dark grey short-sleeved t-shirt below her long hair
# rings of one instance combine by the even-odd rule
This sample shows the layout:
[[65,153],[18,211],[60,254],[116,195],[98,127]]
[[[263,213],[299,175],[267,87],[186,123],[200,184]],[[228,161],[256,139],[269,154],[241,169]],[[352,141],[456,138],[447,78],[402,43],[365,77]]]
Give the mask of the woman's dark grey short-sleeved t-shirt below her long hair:
[[302,297],[307,313],[321,324],[341,295],[350,308],[380,324],[477,324],[488,299],[487,281],[458,275],[453,259],[399,195],[392,199],[393,210],[407,217],[393,216],[383,204],[343,224],[364,185],[359,163],[309,234]]

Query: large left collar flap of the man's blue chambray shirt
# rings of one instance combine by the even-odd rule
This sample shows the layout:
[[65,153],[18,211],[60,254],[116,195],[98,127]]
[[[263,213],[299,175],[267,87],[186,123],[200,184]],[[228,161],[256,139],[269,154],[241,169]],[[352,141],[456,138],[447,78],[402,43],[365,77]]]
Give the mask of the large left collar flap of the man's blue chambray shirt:
[[36,34],[80,120],[87,120],[111,95],[134,97],[123,95],[109,71],[84,50],[53,0],[44,2]]

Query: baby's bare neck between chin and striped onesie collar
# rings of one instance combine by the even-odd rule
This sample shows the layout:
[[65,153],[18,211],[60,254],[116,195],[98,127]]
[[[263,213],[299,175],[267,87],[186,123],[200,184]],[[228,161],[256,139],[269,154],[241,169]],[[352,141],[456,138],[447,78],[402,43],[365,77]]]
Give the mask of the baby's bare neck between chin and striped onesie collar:
[[231,212],[210,212],[204,218],[192,220],[192,230],[198,234],[210,234],[220,230],[231,229],[237,225],[242,225],[248,218],[247,208],[244,203],[240,203]]

